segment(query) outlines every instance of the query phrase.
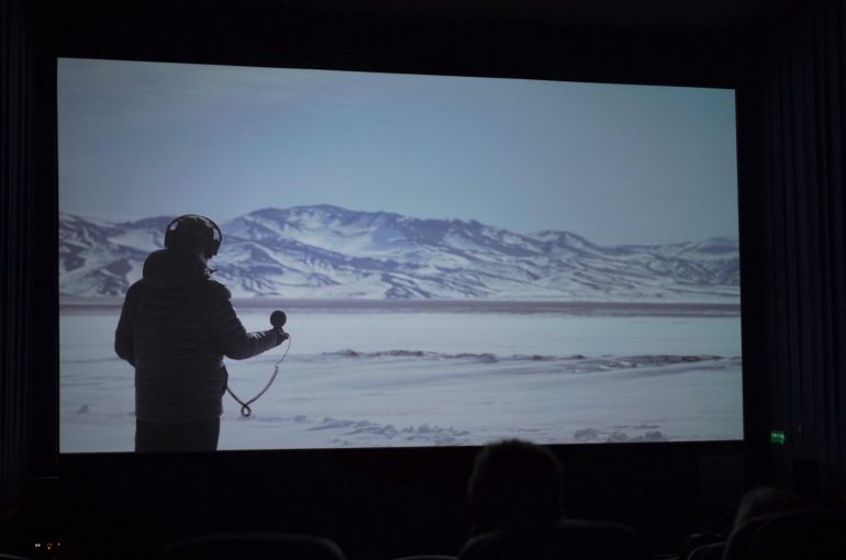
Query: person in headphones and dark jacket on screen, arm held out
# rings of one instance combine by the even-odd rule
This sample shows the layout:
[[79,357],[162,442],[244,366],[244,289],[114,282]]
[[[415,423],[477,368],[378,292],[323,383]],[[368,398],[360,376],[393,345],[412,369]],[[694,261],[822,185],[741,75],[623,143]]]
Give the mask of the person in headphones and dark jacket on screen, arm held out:
[[288,338],[281,328],[246,332],[208,267],[222,240],[210,219],[177,217],[126,291],[114,349],[135,368],[136,452],[216,450],[223,357],[251,358]]

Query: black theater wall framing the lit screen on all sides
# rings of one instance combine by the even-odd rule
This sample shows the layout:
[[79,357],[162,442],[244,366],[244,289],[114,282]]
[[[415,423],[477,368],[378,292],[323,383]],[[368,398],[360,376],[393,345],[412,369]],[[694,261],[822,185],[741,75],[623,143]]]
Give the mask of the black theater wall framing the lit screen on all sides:
[[726,526],[745,485],[846,488],[842,1],[52,4],[0,1],[0,507],[55,477],[35,486],[64,504],[33,518],[64,519],[77,556],[249,527],[316,531],[353,559],[450,553],[472,450],[59,460],[56,56],[737,87],[747,443],[556,449],[570,513],[671,552]]

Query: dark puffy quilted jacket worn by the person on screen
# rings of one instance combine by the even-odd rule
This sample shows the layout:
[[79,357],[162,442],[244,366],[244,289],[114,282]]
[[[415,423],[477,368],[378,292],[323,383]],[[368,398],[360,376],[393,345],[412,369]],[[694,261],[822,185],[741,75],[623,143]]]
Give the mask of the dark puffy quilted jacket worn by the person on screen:
[[211,419],[223,411],[223,357],[244,359],[279,343],[272,329],[247,333],[229,290],[197,256],[158,250],[130,287],[114,349],[135,367],[135,414],[153,422]]

